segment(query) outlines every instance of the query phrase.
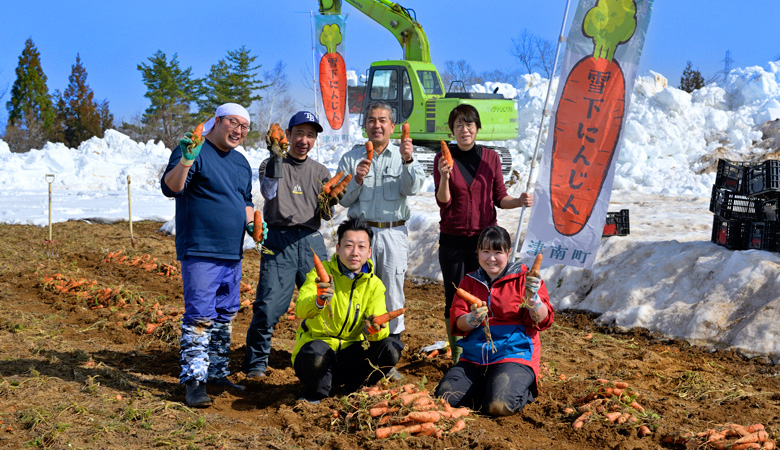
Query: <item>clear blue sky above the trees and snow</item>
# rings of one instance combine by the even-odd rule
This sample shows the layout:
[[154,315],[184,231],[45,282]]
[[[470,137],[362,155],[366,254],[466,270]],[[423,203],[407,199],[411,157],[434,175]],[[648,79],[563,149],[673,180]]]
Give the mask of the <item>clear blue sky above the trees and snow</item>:
[[[143,113],[148,101],[137,65],[157,50],[174,53],[193,75],[204,77],[228,50],[246,45],[261,70],[281,60],[295,97],[311,103],[311,11],[316,0],[255,2],[183,2],[88,0],[6,2],[0,18],[0,92],[5,103],[24,43],[32,38],[41,53],[50,92],[64,90],[80,54],[87,82],[98,100],[109,101],[117,122]],[[482,2],[404,0],[415,10],[428,35],[433,62],[465,59],[477,72],[519,68],[511,40],[524,29],[552,42],[561,29],[565,0]],[[479,6],[475,6],[475,5]],[[569,20],[577,1],[572,1]],[[350,5],[346,30],[346,65],[364,72],[375,60],[397,59],[393,36]],[[677,86],[688,60],[705,78],[722,70],[726,51],[732,67],[767,66],[780,57],[777,0],[656,0],[639,74],[659,72]],[[566,33],[568,33],[568,25]]]

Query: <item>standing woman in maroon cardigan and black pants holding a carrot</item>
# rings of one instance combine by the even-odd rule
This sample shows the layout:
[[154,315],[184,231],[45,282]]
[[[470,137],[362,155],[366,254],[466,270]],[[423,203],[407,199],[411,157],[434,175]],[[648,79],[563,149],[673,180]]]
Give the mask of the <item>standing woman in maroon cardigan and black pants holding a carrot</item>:
[[[476,143],[482,128],[479,112],[471,105],[458,105],[448,121],[456,145],[449,145],[454,166],[450,167],[438,153],[434,158],[433,181],[436,203],[440,208],[439,264],[444,281],[444,319],[449,323],[449,311],[455,284],[463,276],[477,270],[477,238],[485,228],[496,225],[496,207],[502,209],[531,206],[533,196],[523,193],[519,198],[507,195],[501,158],[492,149]],[[449,327],[448,327],[449,329]],[[458,362],[456,340],[447,333],[452,347],[452,359]]]

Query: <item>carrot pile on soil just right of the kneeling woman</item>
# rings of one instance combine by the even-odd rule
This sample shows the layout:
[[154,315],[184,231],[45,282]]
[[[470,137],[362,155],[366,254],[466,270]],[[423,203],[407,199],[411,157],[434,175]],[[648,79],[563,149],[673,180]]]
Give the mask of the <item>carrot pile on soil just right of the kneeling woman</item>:
[[593,392],[577,399],[574,406],[563,408],[565,414],[574,417],[572,426],[575,429],[601,420],[636,428],[639,437],[652,434],[650,426],[654,427],[651,421],[654,415],[636,401],[639,394],[629,388],[628,383],[603,378],[596,383]]

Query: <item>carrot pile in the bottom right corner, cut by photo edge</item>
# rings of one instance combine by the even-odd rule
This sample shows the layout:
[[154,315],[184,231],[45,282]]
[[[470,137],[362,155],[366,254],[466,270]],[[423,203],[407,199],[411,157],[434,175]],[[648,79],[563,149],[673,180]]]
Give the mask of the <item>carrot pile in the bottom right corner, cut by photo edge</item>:
[[661,442],[665,444],[685,445],[686,448],[698,449],[730,449],[742,450],[748,448],[772,450],[777,443],[764,430],[764,425],[739,425],[727,423],[718,428],[711,428],[699,433],[681,431],[664,436]]

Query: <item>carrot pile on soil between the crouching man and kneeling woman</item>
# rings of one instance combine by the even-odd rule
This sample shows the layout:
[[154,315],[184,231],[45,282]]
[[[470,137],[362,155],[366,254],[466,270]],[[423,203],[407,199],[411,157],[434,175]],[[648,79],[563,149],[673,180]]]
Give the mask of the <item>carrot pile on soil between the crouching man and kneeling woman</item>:
[[342,399],[346,411],[333,411],[343,417],[349,431],[363,430],[376,439],[392,436],[433,436],[442,438],[466,428],[468,408],[453,408],[443,399],[431,397],[428,390],[414,384],[390,387],[386,379],[364,387]]

